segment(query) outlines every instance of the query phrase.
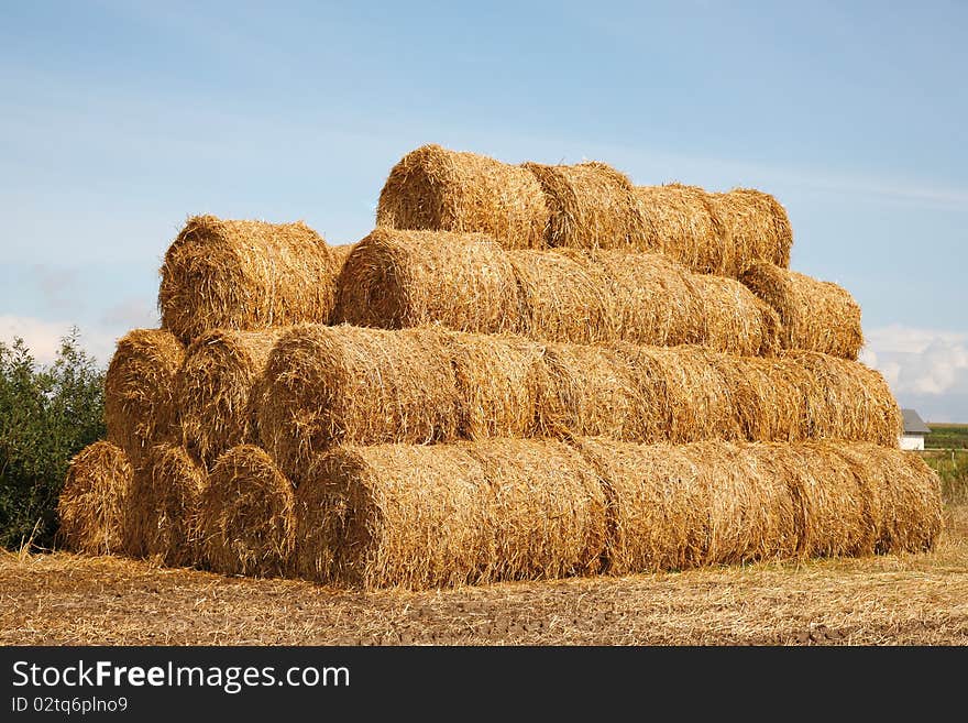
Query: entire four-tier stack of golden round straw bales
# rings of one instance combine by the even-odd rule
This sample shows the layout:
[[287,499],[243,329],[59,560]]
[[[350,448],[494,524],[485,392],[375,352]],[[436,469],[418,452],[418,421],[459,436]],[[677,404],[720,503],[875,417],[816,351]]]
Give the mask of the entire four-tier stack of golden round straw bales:
[[62,538],[360,588],[928,549],[937,478],[791,243],[758,190],[440,146],[354,247],[193,218]]

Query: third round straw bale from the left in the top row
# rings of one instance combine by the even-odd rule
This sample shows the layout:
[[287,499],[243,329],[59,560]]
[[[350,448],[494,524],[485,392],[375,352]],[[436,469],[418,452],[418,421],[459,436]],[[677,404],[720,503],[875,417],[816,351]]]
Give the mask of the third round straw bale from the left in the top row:
[[729,239],[712,212],[705,190],[667,184],[637,186],[635,193],[641,213],[653,230],[657,250],[693,271],[723,273]]

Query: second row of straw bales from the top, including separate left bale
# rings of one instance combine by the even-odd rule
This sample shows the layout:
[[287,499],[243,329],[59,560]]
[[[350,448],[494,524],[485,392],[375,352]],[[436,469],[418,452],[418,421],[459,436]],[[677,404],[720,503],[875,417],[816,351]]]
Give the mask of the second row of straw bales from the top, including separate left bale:
[[765,262],[737,281],[657,252],[506,250],[484,234],[387,228],[330,247],[304,223],[211,216],[189,219],[172,243],[158,304],[162,326],[186,346],[212,329],[306,322],[847,359],[862,344],[846,291]]

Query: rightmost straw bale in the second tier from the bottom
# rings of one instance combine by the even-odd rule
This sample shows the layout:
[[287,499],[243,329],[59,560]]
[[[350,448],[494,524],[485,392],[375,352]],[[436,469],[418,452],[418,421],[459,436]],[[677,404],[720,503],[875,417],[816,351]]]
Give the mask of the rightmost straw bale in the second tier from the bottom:
[[810,374],[806,394],[806,430],[803,438],[871,441],[899,445],[901,409],[880,372],[860,362],[815,351],[784,351]]

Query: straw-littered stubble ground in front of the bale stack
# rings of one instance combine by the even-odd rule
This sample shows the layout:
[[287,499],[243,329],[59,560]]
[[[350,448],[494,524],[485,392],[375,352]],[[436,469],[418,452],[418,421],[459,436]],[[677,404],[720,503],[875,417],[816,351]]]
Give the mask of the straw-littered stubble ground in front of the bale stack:
[[360,593],[0,554],[0,644],[968,644],[968,506],[928,555]]

